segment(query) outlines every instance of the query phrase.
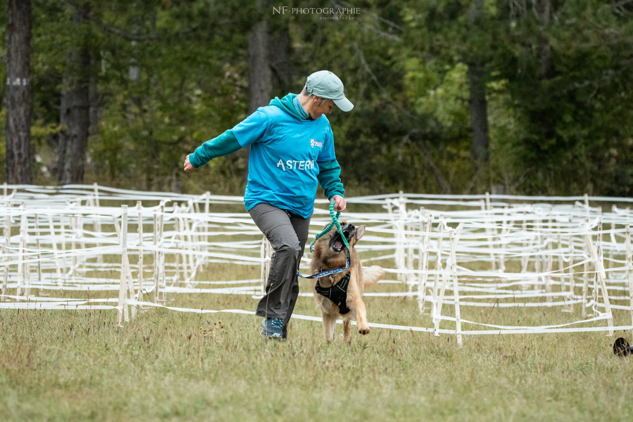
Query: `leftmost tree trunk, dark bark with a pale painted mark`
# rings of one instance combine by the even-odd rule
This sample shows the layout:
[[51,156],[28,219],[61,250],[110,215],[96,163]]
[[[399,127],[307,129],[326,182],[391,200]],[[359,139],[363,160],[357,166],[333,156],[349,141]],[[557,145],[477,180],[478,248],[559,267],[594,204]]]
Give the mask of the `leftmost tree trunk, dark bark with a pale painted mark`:
[[32,183],[29,79],[31,1],[8,0],[6,25],[6,155],[8,183]]

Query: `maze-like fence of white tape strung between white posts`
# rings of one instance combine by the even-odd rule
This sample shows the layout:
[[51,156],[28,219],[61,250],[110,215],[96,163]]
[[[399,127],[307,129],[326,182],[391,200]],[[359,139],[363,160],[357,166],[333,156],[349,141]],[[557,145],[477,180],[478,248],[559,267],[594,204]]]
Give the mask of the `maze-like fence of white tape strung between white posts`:
[[[184,195],[96,184],[5,184],[0,200],[0,308],[116,309],[121,325],[149,307],[201,311],[167,306],[173,294],[261,296],[273,251],[243,208],[225,211],[242,200],[209,192]],[[587,195],[401,192],[350,197],[349,208],[365,204],[373,212],[348,212],[342,218],[367,226],[356,247],[363,263],[380,261],[395,278],[383,283],[403,286],[400,292],[365,296],[415,299],[418,313],[429,313],[433,321],[428,327],[389,328],[454,334],[461,345],[463,335],[601,330],[613,335],[614,330],[633,329],[629,202],[633,199]],[[590,204],[611,208],[603,212]],[[318,199],[315,205],[311,238],[330,221],[327,201]],[[306,253],[303,271],[309,258]],[[201,279],[218,264],[256,265],[259,276]],[[101,291],[106,297],[55,297],[61,290]],[[116,297],[108,294],[115,291]],[[582,319],[506,326],[461,318],[463,307],[493,306],[555,307],[563,316],[580,307]],[[447,307],[454,316],[446,315]],[[631,324],[627,320],[615,326],[612,309],[629,310]],[[232,311],[250,313],[223,310]],[[442,320],[454,328],[440,328]],[[465,325],[468,330],[462,329]]]

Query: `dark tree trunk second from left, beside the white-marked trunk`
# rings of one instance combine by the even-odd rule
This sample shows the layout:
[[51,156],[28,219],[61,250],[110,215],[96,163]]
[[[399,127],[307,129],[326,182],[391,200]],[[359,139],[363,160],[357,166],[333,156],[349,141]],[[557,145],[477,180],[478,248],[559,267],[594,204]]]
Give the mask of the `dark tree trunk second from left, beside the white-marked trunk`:
[[[71,18],[78,27],[84,21],[85,9],[77,9]],[[65,54],[63,86],[60,101],[60,133],[58,151],[58,183],[84,181],[85,152],[90,126],[90,53],[87,46],[79,46]]]

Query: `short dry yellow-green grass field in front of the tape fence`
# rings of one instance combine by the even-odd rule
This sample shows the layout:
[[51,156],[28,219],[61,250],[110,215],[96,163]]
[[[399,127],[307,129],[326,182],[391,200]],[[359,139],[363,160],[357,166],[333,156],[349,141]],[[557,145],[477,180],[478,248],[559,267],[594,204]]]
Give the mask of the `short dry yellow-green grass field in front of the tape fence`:
[[[237,272],[215,266],[200,277],[256,276],[259,268]],[[370,291],[390,289],[403,285]],[[308,291],[304,282],[302,291]],[[254,310],[256,304],[244,295],[172,296],[174,306],[191,308]],[[370,322],[432,326],[415,301],[365,302]],[[295,312],[318,316],[311,297],[300,297]],[[468,307],[462,314],[536,325],[580,319],[580,307],[573,316],[560,309]],[[260,318],[251,315],[151,309],[124,328],[115,317],[115,311],[1,311],[0,420],[613,421],[633,415],[633,358],[614,357],[614,338],[605,333],[465,337],[458,349],[453,336],[380,328],[354,333],[348,345],[338,337],[341,325],[326,344],[320,323],[298,320],[286,342],[270,342],[261,340]],[[627,318],[616,313],[616,325]]]

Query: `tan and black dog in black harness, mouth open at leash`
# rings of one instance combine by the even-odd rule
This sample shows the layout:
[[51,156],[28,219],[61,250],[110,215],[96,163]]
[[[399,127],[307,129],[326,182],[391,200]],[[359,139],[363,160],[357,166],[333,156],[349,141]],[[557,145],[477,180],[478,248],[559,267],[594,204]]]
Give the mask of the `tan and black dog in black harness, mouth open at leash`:
[[[376,283],[384,275],[385,271],[379,266],[371,266],[363,268],[358,253],[354,250],[356,242],[363,237],[365,226],[354,227],[346,221],[341,223],[342,232],[348,240],[350,247],[350,264],[349,268],[342,273],[337,273],[312,280],[312,290],[315,295],[316,302],[321,309],[321,317],[323,320],[323,336],[325,340],[330,341],[334,338],[334,326],[339,316],[343,319],[343,337],[349,342],[351,341],[351,321],[356,319],[358,332],[361,334],[369,334],[369,326],[367,325],[367,313],[365,312],[365,304],[363,303],[363,290],[365,285]],[[346,247],[343,244],[341,235],[336,231],[336,227],[325,233],[316,240],[314,245],[314,254],[312,256],[311,271],[312,274],[321,271],[331,270],[332,268],[344,268],[347,261]],[[327,297],[316,292],[316,282],[320,287],[328,288],[341,282],[349,274],[349,283],[347,289],[346,304],[349,312],[341,314],[339,306],[330,301]]]

